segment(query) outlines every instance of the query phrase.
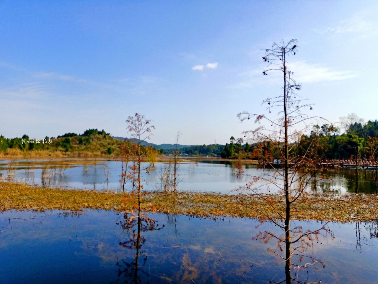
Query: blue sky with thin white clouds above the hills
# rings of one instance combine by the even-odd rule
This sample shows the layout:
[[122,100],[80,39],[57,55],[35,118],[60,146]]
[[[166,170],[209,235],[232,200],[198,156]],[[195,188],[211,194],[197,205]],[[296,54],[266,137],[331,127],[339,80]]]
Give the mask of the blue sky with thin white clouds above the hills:
[[153,143],[226,143],[280,94],[263,48],[297,39],[289,67],[314,115],[378,119],[376,1],[0,1],[0,134],[99,128]]

